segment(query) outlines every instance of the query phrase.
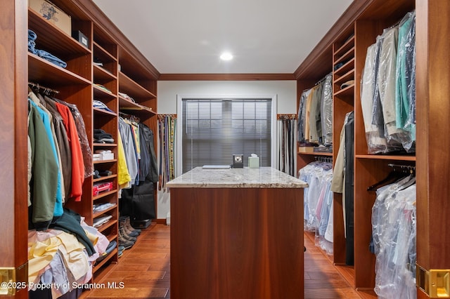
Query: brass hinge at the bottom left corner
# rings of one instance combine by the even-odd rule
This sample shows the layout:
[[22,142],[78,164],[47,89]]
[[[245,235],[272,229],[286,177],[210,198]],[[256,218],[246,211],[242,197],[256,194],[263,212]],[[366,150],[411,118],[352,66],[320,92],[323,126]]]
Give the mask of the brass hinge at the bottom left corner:
[[28,291],[28,262],[19,267],[0,267],[0,296]]

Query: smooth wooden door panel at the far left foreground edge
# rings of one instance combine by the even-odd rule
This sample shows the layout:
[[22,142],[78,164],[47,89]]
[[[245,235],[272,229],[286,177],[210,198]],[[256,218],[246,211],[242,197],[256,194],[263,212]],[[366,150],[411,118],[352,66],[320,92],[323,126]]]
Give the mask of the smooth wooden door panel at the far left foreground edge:
[[[0,267],[27,263],[27,4],[7,0],[0,10]],[[24,272],[26,275],[27,273]],[[18,277],[26,279],[26,277]],[[23,280],[20,280],[23,281]],[[19,291],[15,298],[27,298]]]

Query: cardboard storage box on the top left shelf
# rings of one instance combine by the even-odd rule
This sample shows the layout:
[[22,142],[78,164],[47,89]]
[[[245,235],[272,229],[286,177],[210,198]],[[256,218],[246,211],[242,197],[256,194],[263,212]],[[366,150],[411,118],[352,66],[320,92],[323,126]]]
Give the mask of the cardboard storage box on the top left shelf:
[[[69,36],[72,33],[72,19],[70,15],[61,11],[58,6],[46,0],[28,0],[28,6]],[[39,39],[39,36],[37,38]]]

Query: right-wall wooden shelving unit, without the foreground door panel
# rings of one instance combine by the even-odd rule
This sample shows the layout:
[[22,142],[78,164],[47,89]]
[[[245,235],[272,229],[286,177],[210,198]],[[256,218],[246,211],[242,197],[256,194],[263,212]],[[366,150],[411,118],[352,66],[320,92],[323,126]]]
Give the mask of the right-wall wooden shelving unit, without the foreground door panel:
[[[343,219],[342,194],[333,198],[333,256],[330,257],[343,277],[364,298],[375,298],[375,255],[368,249],[371,239],[371,209],[375,194],[367,187],[385,178],[390,163],[415,165],[415,155],[368,154],[364,122],[362,119],[360,91],[361,73],[364,68],[367,47],[375,43],[376,36],[403,18],[415,8],[413,0],[368,0],[352,6],[354,15],[343,15],[339,25],[328,32],[296,71],[297,98],[304,89],[311,88],[333,70],[333,153],[336,160],[340,145],[340,131],[345,115],[354,111],[354,265],[345,265],[346,242]],[[320,61],[320,63],[319,63]],[[317,63],[314,63],[317,62]],[[326,63],[328,62],[328,63]],[[353,84],[341,88],[342,84]],[[297,106],[298,107],[298,106]],[[299,151],[297,170],[314,161],[318,152]],[[322,154],[325,155],[325,154]]]

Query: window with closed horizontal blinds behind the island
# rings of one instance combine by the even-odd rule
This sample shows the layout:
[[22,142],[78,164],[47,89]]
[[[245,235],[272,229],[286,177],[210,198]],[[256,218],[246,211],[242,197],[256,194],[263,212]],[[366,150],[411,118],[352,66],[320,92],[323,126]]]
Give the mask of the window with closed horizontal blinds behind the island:
[[255,153],[271,166],[272,99],[182,99],[183,173]]

